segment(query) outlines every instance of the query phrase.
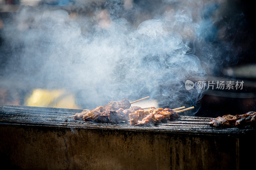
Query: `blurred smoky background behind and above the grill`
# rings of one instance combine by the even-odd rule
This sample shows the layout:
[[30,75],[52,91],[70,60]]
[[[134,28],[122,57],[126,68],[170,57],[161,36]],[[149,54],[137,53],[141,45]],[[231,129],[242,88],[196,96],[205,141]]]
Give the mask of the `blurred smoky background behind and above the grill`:
[[[239,0],[0,0],[0,105],[256,111],[255,15]],[[186,90],[186,80],[244,81]]]

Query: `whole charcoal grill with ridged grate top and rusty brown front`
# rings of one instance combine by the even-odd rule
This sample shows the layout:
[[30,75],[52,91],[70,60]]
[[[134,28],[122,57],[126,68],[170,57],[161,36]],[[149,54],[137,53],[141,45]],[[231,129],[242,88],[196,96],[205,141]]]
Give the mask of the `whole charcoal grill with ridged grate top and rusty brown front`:
[[256,151],[252,127],[215,129],[210,118],[190,116],[155,127],[68,117],[81,111],[0,106],[2,163],[22,169],[244,169]]

